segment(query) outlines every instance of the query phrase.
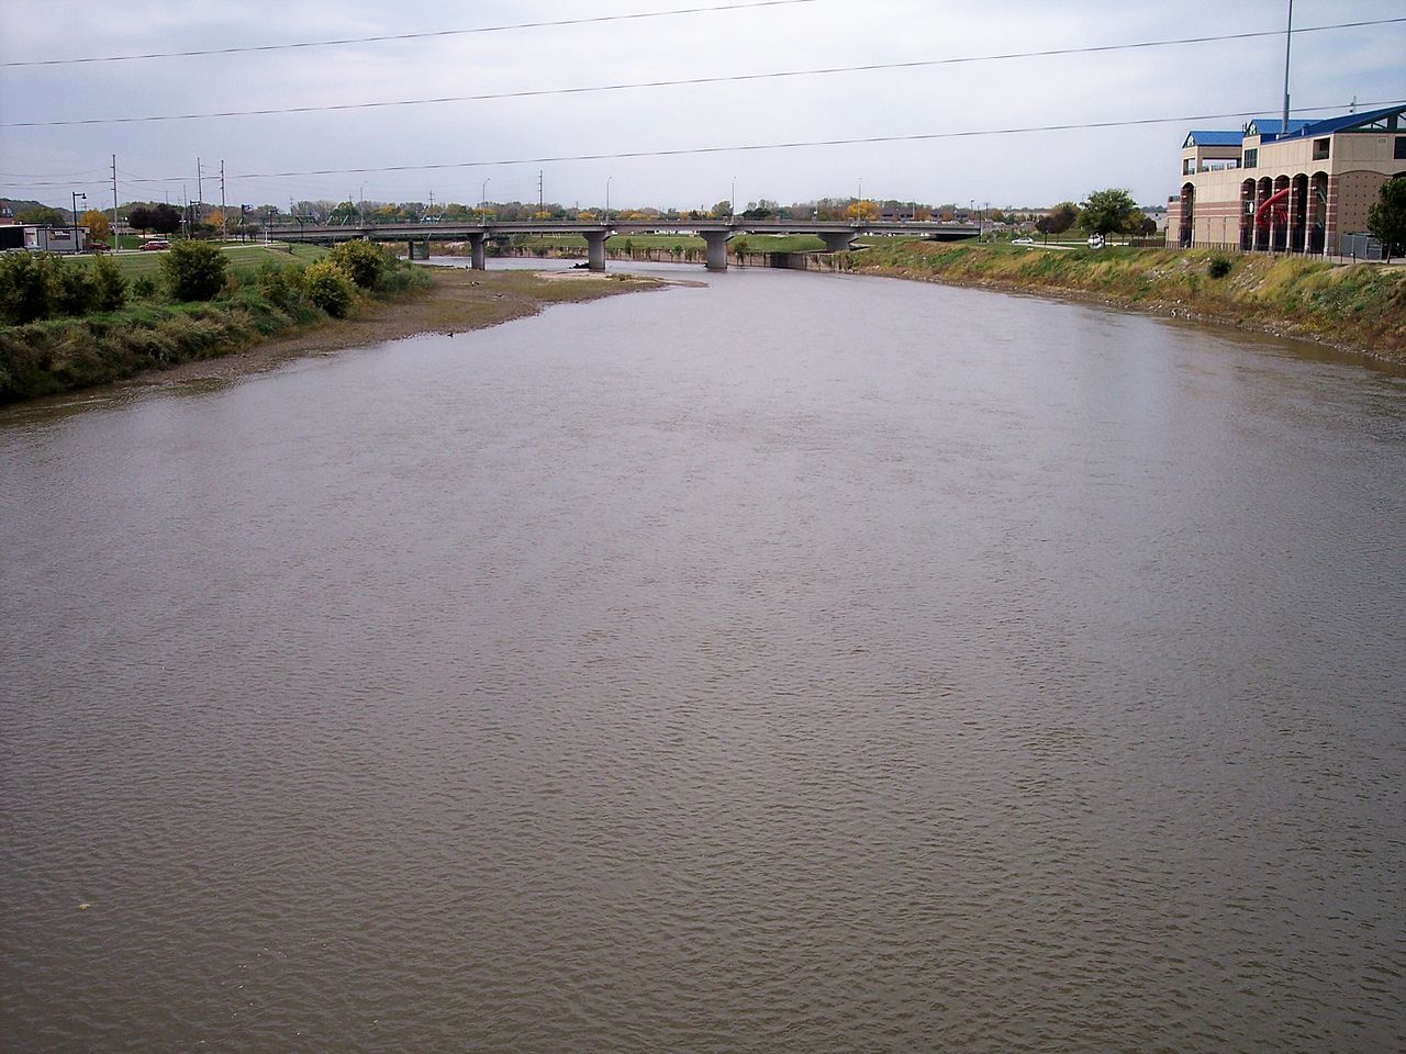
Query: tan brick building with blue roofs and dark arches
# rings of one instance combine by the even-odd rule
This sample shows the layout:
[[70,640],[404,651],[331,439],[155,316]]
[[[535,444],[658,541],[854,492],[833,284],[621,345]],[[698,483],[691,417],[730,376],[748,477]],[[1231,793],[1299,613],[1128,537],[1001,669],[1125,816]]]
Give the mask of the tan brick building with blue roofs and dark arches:
[[1282,125],[1188,132],[1168,238],[1184,249],[1339,253],[1344,235],[1367,229],[1382,184],[1406,177],[1406,107]]

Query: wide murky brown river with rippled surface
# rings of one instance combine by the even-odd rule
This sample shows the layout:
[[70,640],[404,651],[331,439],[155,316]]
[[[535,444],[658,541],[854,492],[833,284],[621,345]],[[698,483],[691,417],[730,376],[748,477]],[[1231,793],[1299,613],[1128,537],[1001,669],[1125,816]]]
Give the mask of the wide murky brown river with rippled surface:
[[1406,375],[707,282],[0,413],[4,1050],[1406,1048]]

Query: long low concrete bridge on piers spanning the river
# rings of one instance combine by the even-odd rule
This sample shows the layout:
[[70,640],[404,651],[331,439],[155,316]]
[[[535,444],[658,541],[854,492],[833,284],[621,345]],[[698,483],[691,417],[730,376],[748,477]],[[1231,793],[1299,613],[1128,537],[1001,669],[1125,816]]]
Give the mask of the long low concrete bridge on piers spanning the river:
[[586,239],[586,260],[592,271],[606,268],[606,239],[612,235],[697,235],[707,243],[707,270],[727,270],[727,242],[735,235],[815,235],[827,253],[848,249],[860,235],[907,235],[938,242],[956,242],[980,235],[980,228],[960,223],[903,221],[823,219],[621,219],[576,222],[567,219],[470,221],[436,223],[297,223],[270,228],[283,242],[468,242],[472,266],[484,270],[489,239],[510,235],[579,235]]

